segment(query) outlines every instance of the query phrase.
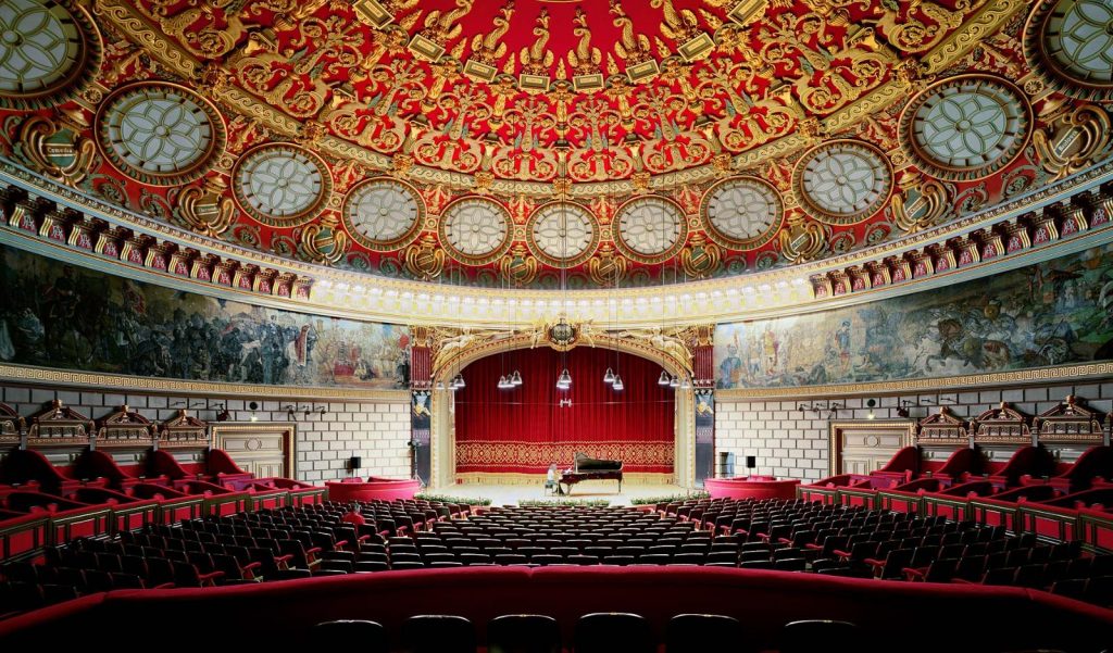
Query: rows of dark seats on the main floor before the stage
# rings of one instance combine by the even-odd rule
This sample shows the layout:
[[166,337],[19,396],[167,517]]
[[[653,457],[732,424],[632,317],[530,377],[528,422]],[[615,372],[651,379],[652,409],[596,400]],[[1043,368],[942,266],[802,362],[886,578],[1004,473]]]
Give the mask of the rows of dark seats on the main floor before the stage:
[[392,570],[689,565],[1050,592],[1065,583],[1058,587],[1073,596],[1113,604],[1104,580],[1113,555],[1090,556],[1078,541],[1051,545],[974,522],[801,499],[656,508],[495,507],[452,518],[445,505],[380,502],[364,506],[367,524],[356,528],[342,521],[344,505],[326,502],[81,538],[49,550],[47,564],[9,565],[16,577],[9,567],[4,576],[56,584],[65,575],[88,594],[120,586],[120,573],[139,587],[196,587]]

